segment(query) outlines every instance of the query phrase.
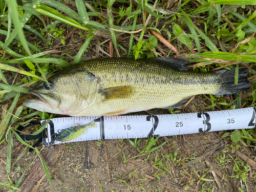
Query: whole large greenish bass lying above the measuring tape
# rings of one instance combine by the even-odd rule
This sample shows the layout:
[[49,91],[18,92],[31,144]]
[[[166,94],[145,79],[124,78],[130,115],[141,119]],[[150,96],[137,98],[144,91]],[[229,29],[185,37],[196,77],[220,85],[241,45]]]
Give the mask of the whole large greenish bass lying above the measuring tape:
[[186,60],[96,58],[79,62],[38,82],[23,105],[69,116],[110,116],[155,108],[180,108],[199,94],[228,95],[250,88],[248,69],[189,71]]

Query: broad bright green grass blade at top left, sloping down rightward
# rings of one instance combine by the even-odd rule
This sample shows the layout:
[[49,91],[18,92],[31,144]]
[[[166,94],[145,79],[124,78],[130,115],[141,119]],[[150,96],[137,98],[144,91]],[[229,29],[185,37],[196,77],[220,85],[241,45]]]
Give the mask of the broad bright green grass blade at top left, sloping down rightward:
[[[13,1],[13,0],[12,0]],[[87,27],[83,27],[82,25],[80,25],[79,23],[77,23],[74,19],[69,18],[69,17],[65,17],[62,14],[60,14],[57,10],[47,7],[45,5],[37,5],[35,8],[35,11],[37,11],[40,14],[46,15],[48,17],[60,20],[61,22],[71,25],[73,27],[76,27],[78,29],[82,29],[85,31],[90,31],[90,29],[88,29]]]

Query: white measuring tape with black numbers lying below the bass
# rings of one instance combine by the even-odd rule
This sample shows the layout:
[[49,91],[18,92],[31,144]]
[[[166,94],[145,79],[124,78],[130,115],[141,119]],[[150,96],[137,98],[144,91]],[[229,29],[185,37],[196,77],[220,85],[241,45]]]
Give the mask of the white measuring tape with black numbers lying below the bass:
[[[134,139],[193,134],[212,131],[253,129],[255,127],[256,108],[244,108],[226,111],[168,114],[168,115],[128,115],[102,117],[63,117],[51,119],[42,132],[44,146],[101,139]],[[55,141],[60,131],[76,123],[87,124],[95,120],[97,127],[91,127],[87,133],[65,142]],[[41,121],[43,126],[47,121]],[[55,134],[56,133],[56,134]],[[48,137],[51,136],[51,137]]]

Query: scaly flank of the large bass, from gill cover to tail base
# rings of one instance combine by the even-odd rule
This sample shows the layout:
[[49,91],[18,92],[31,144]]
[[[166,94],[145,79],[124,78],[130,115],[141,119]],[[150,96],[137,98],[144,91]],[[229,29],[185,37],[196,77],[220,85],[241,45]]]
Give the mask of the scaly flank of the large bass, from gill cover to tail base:
[[104,88],[132,85],[135,89],[135,94],[127,99],[103,103],[95,99],[95,104],[86,110],[92,115],[110,113],[113,105],[115,111],[127,113],[166,108],[188,96],[215,94],[220,87],[220,80],[212,74],[177,71],[169,65],[159,65],[150,60],[109,59],[102,63],[102,59],[93,59],[92,62],[81,62],[79,67],[99,78]]

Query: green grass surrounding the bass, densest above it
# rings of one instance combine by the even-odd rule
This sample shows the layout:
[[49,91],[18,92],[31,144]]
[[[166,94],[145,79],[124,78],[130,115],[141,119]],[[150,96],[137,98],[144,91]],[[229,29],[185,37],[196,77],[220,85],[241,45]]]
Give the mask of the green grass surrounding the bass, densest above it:
[[[168,48],[165,51],[166,47],[161,49],[163,45],[167,47],[172,45],[178,48],[180,54],[184,53],[186,59],[197,62],[197,65],[193,66],[194,70],[202,72],[213,68],[238,69],[239,66],[246,65],[249,68],[249,80],[252,82],[249,96],[241,98],[236,95],[233,101],[219,96],[210,96],[211,105],[204,109],[216,109],[216,106],[235,109],[245,104],[247,106],[256,104],[254,90],[256,11],[253,11],[256,3],[254,0],[178,1],[171,10],[165,9],[164,2],[161,1],[153,3],[140,0],[133,2],[76,0],[76,9],[70,8],[64,2],[53,0],[28,0],[26,3],[22,1],[17,3],[18,6],[16,1],[10,0],[7,5],[4,0],[0,0],[0,34],[5,36],[5,41],[0,41],[2,53],[0,102],[3,108],[0,143],[8,143],[7,174],[10,173],[13,163],[11,161],[13,136],[15,135],[20,142],[30,146],[16,134],[17,123],[25,124],[33,118],[40,118],[39,112],[19,106],[24,99],[23,94],[28,93],[28,86],[39,80],[47,81],[46,77],[55,71],[68,67],[71,63],[80,62],[83,58],[94,56],[94,52],[88,54],[88,51],[95,44],[100,45],[96,49],[98,51],[95,51],[97,55],[104,56],[104,53],[108,53],[116,57],[134,58],[169,56],[170,54],[175,56],[177,52],[174,53],[174,50]],[[123,8],[124,5],[125,8]],[[250,9],[247,5],[251,7],[254,5],[254,9]],[[81,29],[85,36],[80,37],[83,38],[83,42],[81,40],[77,53],[70,51],[67,40],[64,40],[68,35],[65,31],[71,29]],[[151,33],[150,30],[156,33]],[[28,38],[29,36],[35,37],[32,39],[36,40]],[[119,36],[126,38],[129,44],[118,40]],[[102,37],[107,38],[107,41],[104,42],[105,39]],[[59,40],[62,47],[53,50],[53,44]],[[234,81],[237,80],[234,79]],[[38,132],[41,130],[39,129]],[[239,144],[250,147],[256,140],[254,130],[226,132],[223,134],[224,137],[230,137],[232,140],[233,143],[230,145],[232,152],[238,150]],[[158,138],[149,138],[141,148],[138,147],[140,139],[127,141],[136,148],[140,153],[139,156],[147,155],[147,158],[150,154],[157,153],[165,144],[163,142],[154,147]],[[35,149],[35,152],[40,157],[52,185],[44,160],[38,150]],[[156,156],[153,164],[161,170],[161,173],[155,177],[159,178],[164,172],[169,173],[162,161],[165,159],[170,163],[179,163],[180,159],[177,160],[176,156],[177,153],[162,155],[161,158]],[[126,159],[122,153],[125,163],[136,157]],[[219,157],[219,161],[222,161],[221,165],[224,159]],[[0,184],[15,190],[24,178],[28,166],[15,185],[11,180],[8,184]],[[245,182],[247,170],[243,163],[236,161],[236,169],[234,169],[236,177],[241,177]],[[204,178],[202,177],[201,180]],[[124,180],[120,182],[129,186]],[[143,187],[142,189],[145,191]]]

